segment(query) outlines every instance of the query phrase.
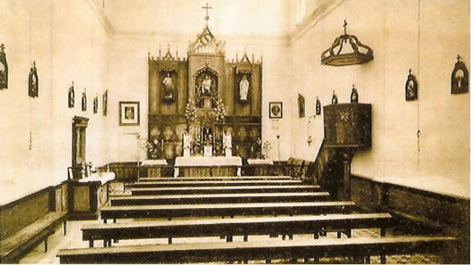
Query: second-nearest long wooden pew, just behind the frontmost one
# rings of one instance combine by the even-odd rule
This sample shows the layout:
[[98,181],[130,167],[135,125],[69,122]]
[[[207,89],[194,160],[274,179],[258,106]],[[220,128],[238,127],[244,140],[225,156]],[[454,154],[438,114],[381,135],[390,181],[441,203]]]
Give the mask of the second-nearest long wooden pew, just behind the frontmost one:
[[94,240],[103,240],[104,245],[112,239],[141,239],[198,237],[198,236],[227,236],[232,241],[233,236],[244,236],[244,241],[252,235],[289,235],[313,234],[318,238],[322,231],[345,231],[351,236],[354,228],[381,228],[391,224],[389,213],[360,213],[360,214],[329,214],[315,216],[284,216],[266,218],[236,218],[236,219],[186,219],[173,221],[141,221],[119,224],[90,224],[82,227],[82,238],[93,247]]

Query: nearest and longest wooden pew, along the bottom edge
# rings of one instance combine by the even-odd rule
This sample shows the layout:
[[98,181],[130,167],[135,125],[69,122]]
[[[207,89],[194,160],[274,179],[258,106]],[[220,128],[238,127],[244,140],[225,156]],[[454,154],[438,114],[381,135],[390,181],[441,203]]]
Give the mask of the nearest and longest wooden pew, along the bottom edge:
[[[454,237],[387,236],[318,240],[147,244],[61,250],[61,263],[187,263],[439,253]],[[308,260],[309,261],[309,260]],[[385,263],[385,259],[383,260]]]

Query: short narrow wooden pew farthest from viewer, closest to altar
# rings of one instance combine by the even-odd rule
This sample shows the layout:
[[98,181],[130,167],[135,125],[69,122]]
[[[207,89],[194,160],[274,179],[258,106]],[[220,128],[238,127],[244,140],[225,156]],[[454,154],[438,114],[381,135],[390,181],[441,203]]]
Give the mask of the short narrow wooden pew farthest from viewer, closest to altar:
[[157,181],[219,181],[219,180],[289,180],[290,176],[241,176],[241,177],[179,177],[179,178],[139,178],[139,182]]

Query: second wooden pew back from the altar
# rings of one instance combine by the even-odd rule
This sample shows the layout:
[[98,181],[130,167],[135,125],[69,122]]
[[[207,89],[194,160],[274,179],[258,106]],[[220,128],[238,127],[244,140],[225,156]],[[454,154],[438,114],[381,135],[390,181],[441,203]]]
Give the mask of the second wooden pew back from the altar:
[[128,184],[128,187],[171,187],[171,186],[282,186],[302,185],[302,180],[197,180],[197,181],[145,181]]

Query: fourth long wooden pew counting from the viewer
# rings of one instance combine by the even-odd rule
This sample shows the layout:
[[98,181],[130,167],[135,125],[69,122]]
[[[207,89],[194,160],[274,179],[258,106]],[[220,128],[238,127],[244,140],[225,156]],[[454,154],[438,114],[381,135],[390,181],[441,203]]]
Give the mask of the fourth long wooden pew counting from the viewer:
[[288,203],[328,200],[327,192],[314,193],[263,193],[263,194],[215,194],[215,195],[126,195],[112,196],[112,206],[152,204],[198,203]]

